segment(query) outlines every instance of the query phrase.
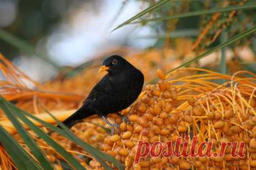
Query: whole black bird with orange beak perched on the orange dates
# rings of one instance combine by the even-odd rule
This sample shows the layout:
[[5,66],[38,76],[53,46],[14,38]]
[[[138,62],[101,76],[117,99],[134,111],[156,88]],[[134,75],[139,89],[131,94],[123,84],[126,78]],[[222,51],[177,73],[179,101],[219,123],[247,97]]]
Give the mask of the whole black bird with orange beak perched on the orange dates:
[[115,113],[122,121],[129,122],[119,111],[126,109],[137,99],[144,84],[144,76],[140,70],[118,55],[105,59],[102,65],[99,72],[108,73],[93,87],[80,109],[63,121],[68,128],[95,114],[111,126],[112,134],[115,133],[115,127],[119,130],[119,125],[111,124],[107,120],[107,114]]

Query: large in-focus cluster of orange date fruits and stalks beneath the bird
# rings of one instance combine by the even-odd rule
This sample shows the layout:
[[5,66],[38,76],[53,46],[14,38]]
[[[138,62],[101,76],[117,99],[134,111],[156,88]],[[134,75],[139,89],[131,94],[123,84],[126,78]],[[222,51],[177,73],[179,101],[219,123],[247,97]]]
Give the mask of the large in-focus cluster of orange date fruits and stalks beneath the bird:
[[[157,70],[161,80],[156,85],[147,85],[135,104],[122,112],[132,125],[115,117],[121,132],[107,136],[101,150],[121,161],[127,169],[256,168],[255,78],[240,78],[243,72],[228,76],[203,69],[178,71],[182,70],[205,73],[167,81],[172,74],[166,77],[163,71]],[[209,79],[227,81],[220,85]],[[245,157],[233,158],[231,147],[227,147],[224,157],[147,156],[134,164],[138,141],[175,142],[176,138],[184,140],[187,135],[198,136],[199,143],[213,142],[211,152],[220,150],[220,142],[238,142],[239,146],[244,141]],[[100,168],[95,160],[90,166]]]

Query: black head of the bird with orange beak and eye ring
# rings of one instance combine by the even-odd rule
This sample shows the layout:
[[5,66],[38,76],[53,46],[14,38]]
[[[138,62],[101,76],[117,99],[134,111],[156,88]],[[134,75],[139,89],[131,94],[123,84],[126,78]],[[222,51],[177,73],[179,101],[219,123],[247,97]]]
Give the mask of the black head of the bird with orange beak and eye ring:
[[107,71],[111,75],[116,75],[121,73],[127,65],[130,65],[130,63],[124,58],[119,55],[112,55],[103,61],[99,72]]

